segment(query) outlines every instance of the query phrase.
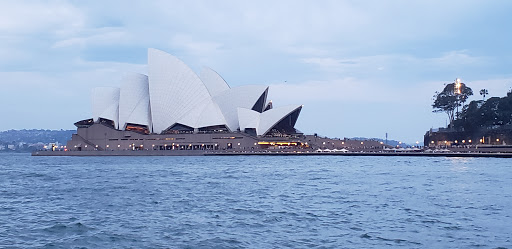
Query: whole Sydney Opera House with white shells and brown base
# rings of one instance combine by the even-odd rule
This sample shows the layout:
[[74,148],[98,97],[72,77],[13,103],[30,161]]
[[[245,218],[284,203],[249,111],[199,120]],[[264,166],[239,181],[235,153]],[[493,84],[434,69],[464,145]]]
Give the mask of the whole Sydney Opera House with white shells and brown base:
[[215,71],[198,75],[148,50],[148,75],[92,90],[92,118],[76,122],[69,151],[258,150],[307,147],[295,129],[301,105],[274,108],[268,87],[231,88]]

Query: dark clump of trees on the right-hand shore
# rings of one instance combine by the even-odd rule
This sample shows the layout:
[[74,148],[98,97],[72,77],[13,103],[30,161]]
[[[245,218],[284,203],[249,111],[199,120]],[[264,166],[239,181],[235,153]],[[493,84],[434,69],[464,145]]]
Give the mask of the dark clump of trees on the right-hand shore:
[[436,92],[433,112],[445,112],[447,127],[430,129],[424,145],[430,148],[471,148],[474,146],[508,146],[512,144],[512,90],[504,97],[491,97],[487,89],[479,91],[481,100],[466,104],[473,95],[470,87],[456,79]]

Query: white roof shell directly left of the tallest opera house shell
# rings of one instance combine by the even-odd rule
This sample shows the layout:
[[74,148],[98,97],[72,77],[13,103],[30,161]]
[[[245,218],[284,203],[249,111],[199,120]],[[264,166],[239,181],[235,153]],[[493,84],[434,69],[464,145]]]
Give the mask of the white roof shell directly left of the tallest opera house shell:
[[127,74],[121,80],[119,129],[125,129],[128,123],[151,127],[149,82],[144,74]]

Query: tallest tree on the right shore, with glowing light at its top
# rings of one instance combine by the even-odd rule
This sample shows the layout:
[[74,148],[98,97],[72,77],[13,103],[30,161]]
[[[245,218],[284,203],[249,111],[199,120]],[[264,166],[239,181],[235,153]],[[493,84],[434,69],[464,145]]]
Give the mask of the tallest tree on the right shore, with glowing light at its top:
[[[469,96],[473,95],[473,90],[466,84],[456,79],[454,83],[447,84],[442,92],[434,94],[433,112],[446,112],[450,120],[450,126],[455,120],[455,115],[459,116],[458,108],[464,105]],[[457,111],[455,112],[455,110]]]

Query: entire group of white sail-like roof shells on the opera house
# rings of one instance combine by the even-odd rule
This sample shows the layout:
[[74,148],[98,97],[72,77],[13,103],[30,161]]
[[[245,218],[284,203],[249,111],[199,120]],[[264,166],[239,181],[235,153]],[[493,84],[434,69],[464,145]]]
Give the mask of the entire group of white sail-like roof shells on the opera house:
[[176,57],[149,49],[147,76],[126,75],[121,89],[93,89],[93,119],[112,120],[121,130],[128,123],[145,125],[154,133],[175,124],[196,129],[225,125],[231,131],[254,128],[264,135],[288,118],[289,124],[282,122],[278,128],[291,130],[299,113],[291,114],[301,107],[270,109],[267,93],[262,85],[230,88],[210,68],[199,77]]

